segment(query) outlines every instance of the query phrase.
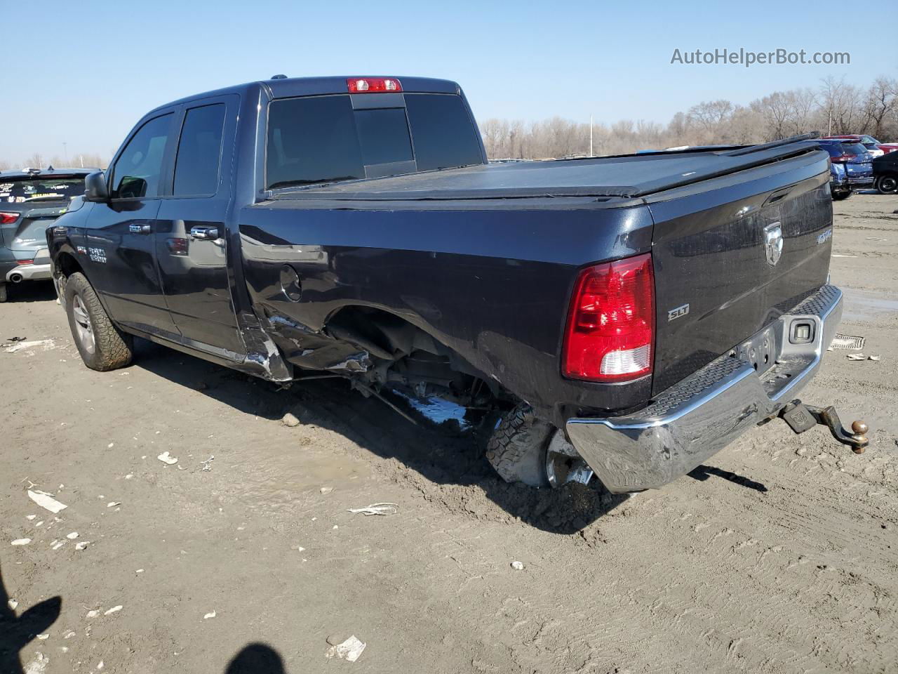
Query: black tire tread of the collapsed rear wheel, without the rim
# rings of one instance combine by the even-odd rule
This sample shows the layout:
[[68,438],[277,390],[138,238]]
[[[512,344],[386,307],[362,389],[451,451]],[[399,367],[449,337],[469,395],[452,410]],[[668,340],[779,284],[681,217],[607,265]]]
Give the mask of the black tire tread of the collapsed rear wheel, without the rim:
[[529,405],[519,404],[499,418],[487,443],[487,459],[508,483],[548,487],[546,451],[554,430],[534,417]]

